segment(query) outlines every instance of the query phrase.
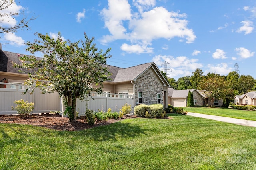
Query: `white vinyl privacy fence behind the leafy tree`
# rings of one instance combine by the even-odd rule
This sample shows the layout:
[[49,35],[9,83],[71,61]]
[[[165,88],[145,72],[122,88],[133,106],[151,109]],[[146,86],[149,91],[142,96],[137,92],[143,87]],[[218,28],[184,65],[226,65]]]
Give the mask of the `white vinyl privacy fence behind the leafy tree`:
[[[1,87],[6,85],[6,88],[0,88],[0,115],[17,114],[11,106],[15,107],[14,101],[23,99],[24,101],[34,103],[33,113],[49,113],[50,111],[65,111],[65,106],[58,93],[41,94],[39,88],[36,88],[33,94],[27,92],[22,94],[26,87],[21,84],[0,83]],[[112,94],[112,93],[92,93],[92,97],[87,100],[77,101],[76,111],[81,114],[86,112],[86,104],[88,109],[93,111],[107,111],[111,108],[112,112],[119,112],[123,105],[129,104],[134,108],[134,95],[132,94]]]

